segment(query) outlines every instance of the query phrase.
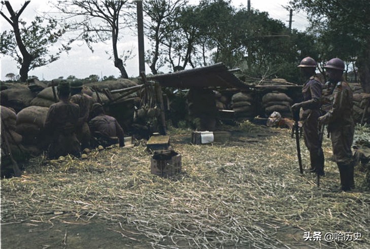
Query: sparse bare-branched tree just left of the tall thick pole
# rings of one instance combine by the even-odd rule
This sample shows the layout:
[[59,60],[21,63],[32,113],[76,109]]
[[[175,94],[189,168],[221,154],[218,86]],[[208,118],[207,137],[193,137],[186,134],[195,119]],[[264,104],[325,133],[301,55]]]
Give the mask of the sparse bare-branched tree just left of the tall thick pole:
[[[57,1],[54,6],[68,15],[66,19],[75,18],[70,22],[71,30],[80,32],[78,38],[84,40],[91,51],[92,43],[111,39],[114,66],[119,69],[122,78],[128,78],[124,61],[119,57],[117,49],[120,29],[130,23],[125,19],[127,12],[123,11],[123,7],[130,6],[128,0]],[[82,20],[76,20],[76,17],[81,17]]]

